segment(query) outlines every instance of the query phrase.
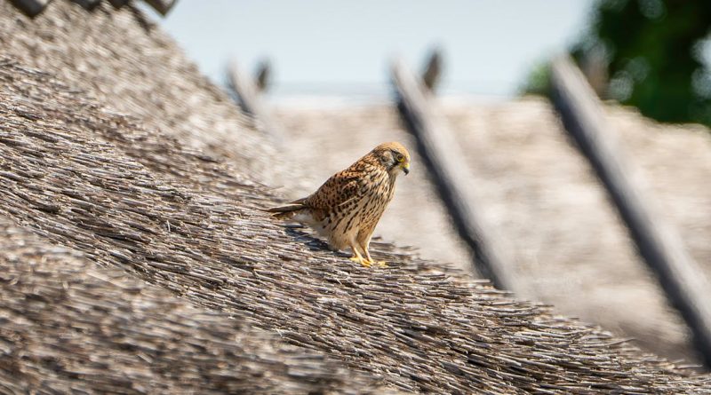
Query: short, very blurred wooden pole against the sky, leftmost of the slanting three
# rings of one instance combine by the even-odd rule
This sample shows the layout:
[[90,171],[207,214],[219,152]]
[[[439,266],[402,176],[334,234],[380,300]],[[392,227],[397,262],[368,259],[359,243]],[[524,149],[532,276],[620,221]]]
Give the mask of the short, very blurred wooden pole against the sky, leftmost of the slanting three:
[[[267,73],[267,76],[265,76],[265,73]],[[268,71],[260,71],[258,79],[260,78],[264,79],[266,86]],[[284,133],[261,99],[260,83],[255,83],[252,77],[246,75],[234,60],[228,66],[228,83],[239,100],[240,107],[247,114],[252,115],[260,129],[272,136],[276,142],[281,142],[281,137],[284,136]]]

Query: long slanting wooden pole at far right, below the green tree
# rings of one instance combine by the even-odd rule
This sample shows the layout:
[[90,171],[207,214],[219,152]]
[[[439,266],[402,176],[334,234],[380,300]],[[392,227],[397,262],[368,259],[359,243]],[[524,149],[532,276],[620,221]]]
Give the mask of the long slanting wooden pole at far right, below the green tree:
[[[552,68],[552,99],[565,129],[592,163],[627,224],[640,255],[689,324],[699,353],[711,367],[711,286],[667,224],[636,170],[616,144],[595,92],[571,59]],[[644,191],[644,192],[643,192]]]

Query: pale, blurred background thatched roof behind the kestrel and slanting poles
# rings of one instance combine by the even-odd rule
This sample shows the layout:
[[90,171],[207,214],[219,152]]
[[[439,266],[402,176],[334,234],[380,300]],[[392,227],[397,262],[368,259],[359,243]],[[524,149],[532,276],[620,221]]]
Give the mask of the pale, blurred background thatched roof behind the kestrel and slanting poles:
[[[442,99],[437,104],[452,139],[466,153],[459,163],[474,174],[467,187],[478,198],[486,230],[515,258],[506,270],[516,295],[634,337],[645,350],[693,361],[683,320],[636,255],[604,186],[547,100]],[[667,221],[679,227],[691,254],[711,276],[706,265],[711,262],[711,188],[704,181],[711,178],[711,134],[607,108],[630,159],[643,168],[664,205]],[[281,156],[292,163],[292,181],[280,184],[288,186],[284,194],[292,199],[348,166],[373,141],[416,146],[392,104],[317,107],[292,101],[276,108],[276,119],[289,130]],[[413,153],[411,174],[397,187],[377,233],[416,246],[422,257],[471,265],[418,153]]]

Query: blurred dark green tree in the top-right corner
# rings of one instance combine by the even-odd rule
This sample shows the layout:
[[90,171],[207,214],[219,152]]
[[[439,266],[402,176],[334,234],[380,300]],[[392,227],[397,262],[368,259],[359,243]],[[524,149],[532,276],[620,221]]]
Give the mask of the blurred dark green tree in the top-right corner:
[[[600,0],[571,49],[603,99],[711,125],[711,0]],[[526,91],[541,91],[541,70]]]

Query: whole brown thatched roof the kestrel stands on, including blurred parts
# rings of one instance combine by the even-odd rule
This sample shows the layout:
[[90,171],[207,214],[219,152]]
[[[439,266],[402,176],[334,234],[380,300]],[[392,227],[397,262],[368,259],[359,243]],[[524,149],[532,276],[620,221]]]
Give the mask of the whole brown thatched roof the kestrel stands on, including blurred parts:
[[[261,209],[274,193],[250,164],[270,161],[268,141],[212,86],[196,83],[172,43],[135,15],[86,14],[62,2],[33,22],[0,18],[10,20],[0,37],[11,49],[0,59],[0,217],[22,228],[4,228],[14,235],[0,253],[9,273],[0,277],[0,312],[17,314],[9,336],[0,328],[7,391],[43,380],[56,380],[46,391],[106,391],[98,385],[108,383],[125,392],[189,390],[230,378],[245,392],[301,393],[376,384],[437,393],[702,393],[711,384],[408,250],[379,243],[373,255],[391,267],[366,270],[273,221]],[[84,31],[84,41],[72,41],[78,50],[52,43],[53,28]],[[122,36],[133,37],[121,42],[131,50],[126,59],[105,56]],[[55,44],[79,59],[53,52]],[[141,74],[143,62],[164,74]],[[104,74],[105,64],[129,74]],[[186,91],[171,93],[170,82],[180,81]],[[185,107],[188,97],[196,102]],[[24,256],[12,252],[20,242]],[[196,373],[204,366],[216,370]],[[156,387],[126,389],[119,375]]]

